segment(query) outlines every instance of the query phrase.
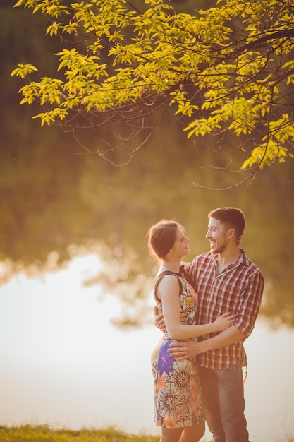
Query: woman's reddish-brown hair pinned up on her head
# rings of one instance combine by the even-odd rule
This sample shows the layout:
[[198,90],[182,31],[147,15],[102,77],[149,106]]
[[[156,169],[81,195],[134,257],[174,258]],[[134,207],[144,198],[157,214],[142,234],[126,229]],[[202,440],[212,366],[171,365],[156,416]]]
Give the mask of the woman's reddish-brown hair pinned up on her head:
[[157,260],[164,259],[176,241],[178,227],[183,226],[173,220],[161,220],[150,227],[148,231],[148,249],[151,256]]

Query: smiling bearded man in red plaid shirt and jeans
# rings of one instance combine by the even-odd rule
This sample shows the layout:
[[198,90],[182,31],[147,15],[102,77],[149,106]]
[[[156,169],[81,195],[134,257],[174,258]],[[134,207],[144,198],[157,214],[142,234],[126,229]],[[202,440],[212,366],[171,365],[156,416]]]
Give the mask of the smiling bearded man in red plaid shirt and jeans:
[[[244,415],[243,348],[254,328],[264,280],[257,266],[239,249],[245,217],[238,208],[218,208],[208,214],[206,234],[210,252],[186,263],[199,296],[198,323],[209,323],[222,313],[236,313],[233,326],[219,334],[174,341],[175,359],[197,357],[205,414],[214,442],[249,442]],[[156,320],[159,325],[159,318]],[[161,327],[162,328],[162,327]]]

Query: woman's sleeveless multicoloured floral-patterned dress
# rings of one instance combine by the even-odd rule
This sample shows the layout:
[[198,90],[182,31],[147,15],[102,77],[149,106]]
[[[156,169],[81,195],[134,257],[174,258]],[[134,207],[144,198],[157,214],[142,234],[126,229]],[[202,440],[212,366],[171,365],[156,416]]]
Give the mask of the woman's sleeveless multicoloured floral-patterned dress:
[[[154,298],[159,311],[157,285],[166,274],[178,277],[180,283],[180,322],[195,325],[197,294],[180,273],[164,272],[154,285]],[[171,338],[165,333],[152,352],[154,379],[154,421],[157,426],[181,428],[204,422],[204,407],[195,358],[176,361],[169,354]]]

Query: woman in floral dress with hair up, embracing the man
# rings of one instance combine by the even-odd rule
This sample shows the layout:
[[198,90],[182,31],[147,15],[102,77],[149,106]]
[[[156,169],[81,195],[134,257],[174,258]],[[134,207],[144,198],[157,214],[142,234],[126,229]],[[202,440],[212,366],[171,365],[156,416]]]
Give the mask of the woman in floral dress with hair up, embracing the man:
[[168,352],[171,340],[222,331],[235,321],[235,315],[224,313],[214,323],[196,325],[197,294],[180,267],[190,253],[189,242],[183,226],[173,220],[161,220],[148,232],[149,252],[160,263],[154,298],[166,322],[166,333],[152,353],[154,420],[161,426],[161,442],[196,442],[205,429],[195,359],[173,359]]

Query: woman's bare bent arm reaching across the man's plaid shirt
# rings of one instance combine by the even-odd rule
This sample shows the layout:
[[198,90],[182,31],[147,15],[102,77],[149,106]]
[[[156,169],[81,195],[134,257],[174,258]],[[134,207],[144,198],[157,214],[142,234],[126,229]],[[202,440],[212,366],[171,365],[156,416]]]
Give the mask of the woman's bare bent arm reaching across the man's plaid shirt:
[[224,313],[213,323],[204,325],[185,325],[180,323],[180,304],[178,280],[176,276],[166,275],[159,282],[157,294],[162,302],[166,330],[172,339],[196,338],[200,335],[220,332],[235,323],[235,315]]

